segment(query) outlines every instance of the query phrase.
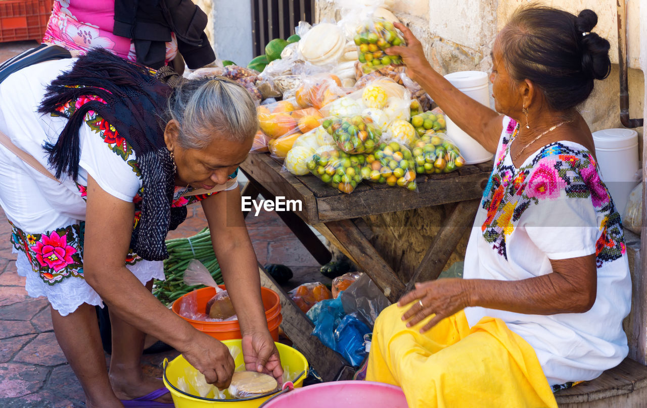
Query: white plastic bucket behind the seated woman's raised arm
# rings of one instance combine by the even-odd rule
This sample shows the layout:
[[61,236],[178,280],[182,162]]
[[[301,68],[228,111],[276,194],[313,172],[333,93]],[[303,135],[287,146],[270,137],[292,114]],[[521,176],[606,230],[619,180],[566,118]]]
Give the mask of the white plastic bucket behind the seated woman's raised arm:
[[[490,106],[490,96],[488,93],[488,76],[486,72],[481,71],[459,71],[445,75],[445,78],[457,87],[461,92],[470,98]],[[487,162],[494,157],[483,149],[483,146],[465,133],[456,123],[452,122],[449,116],[445,116],[447,121],[447,136],[450,136],[457,147],[461,150],[461,155],[465,158],[466,164],[477,164]]]

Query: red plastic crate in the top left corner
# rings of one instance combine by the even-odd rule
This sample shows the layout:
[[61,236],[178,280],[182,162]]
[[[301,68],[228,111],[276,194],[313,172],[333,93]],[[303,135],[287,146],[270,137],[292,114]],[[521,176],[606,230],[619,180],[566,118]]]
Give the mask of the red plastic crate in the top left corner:
[[54,0],[0,0],[0,43],[35,39],[40,42]]

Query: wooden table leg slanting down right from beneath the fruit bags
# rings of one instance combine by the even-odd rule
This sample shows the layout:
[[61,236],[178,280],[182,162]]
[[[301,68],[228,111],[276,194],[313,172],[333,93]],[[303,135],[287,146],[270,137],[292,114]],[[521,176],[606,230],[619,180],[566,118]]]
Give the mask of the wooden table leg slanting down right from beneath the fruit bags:
[[371,277],[389,301],[395,303],[404,293],[404,283],[355,223],[352,220],[339,220],[326,222],[325,226],[333,235],[334,242],[344,248],[342,252]]

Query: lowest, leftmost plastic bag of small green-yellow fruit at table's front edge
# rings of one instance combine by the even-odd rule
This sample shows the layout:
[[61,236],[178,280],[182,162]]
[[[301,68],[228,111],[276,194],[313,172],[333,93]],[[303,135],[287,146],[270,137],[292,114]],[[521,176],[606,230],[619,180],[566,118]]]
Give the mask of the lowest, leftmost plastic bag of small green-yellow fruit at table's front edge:
[[349,155],[336,146],[322,146],[316,150],[307,168],[313,175],[342,193],[352,193],[362,182],[362,155]]

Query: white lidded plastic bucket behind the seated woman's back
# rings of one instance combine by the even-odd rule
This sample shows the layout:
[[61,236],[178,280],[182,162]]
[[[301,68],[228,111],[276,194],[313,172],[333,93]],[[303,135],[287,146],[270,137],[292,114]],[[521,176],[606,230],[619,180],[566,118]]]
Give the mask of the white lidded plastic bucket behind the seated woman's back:
[[631,190],[639,183],[638,133],[633,129],[604,129],[593,132],[593,143],[602,181],[620,215],[624,215]]

